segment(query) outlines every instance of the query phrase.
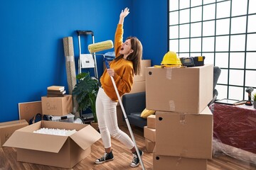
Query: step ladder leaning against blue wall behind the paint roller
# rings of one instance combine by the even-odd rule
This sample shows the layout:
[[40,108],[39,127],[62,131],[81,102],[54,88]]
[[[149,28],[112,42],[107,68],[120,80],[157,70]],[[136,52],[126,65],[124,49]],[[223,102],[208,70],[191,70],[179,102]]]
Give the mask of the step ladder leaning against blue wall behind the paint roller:
[[98,79],[98,73],[97,73],[97,62],[96,62],[96,55],[93,54],[82,54],[82,48],[81,48],[81,39],[80,36],[82,35],[91,35],[92,36],[92,44],[95,43],[94,34],[92,30],[77,30],[78,34],[78,46],[79,46],[79,59],[78,59],[78,74],[82,72],[82,69],[94,69],[94,76],[96,79]]

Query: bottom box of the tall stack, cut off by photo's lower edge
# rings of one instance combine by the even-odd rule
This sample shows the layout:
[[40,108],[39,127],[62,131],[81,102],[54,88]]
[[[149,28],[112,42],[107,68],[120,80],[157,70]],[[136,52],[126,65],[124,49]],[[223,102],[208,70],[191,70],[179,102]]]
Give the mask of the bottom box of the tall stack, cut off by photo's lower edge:
[[207,159],[171,157],[153,154],[153,169],[206,170]]

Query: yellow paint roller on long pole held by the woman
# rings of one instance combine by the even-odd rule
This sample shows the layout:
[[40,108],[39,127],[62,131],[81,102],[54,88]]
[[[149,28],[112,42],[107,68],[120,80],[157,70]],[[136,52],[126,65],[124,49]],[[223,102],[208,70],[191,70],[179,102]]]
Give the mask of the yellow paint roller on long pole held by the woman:
[[[88,45],[88,50],[90,53],[94,53],[94,52],[100,52],[100,51],[103,51],[103,50],[109,50],[110,48],[113,47],[113,42],[112,40],[106,40],[106,41],[102,41],[102,42],[97,42],[97,43],[94,43],[94,44],[91,44],[91,45]],[[110,69],[110,64],[107,62],[107,59],[105,57],[105,55],[103,55],[103,60],[105,61],[105,64],[106,64],[106,67],[107,69]],[[119,96],[119,93],[118,93],[118,90],[117,90],[117,86],[116,84],[114,83],[114,78],[113,77],[110,77],[111,78],[111,81],[112,81],[112,84],[114,86],[114,91],[116,92],[117,94],[117,98],[118,98],[118,101],[120,103],[120,106],[122,108],[122,113],[124,115],[124,119],[127,123],[127,127],[128,127],[128,130],[129,130],[129,133],[132,137],[132,141],[134,142],[134,146],[135,146],[135,149],[136,149],[136,152],[139,153],[139,149],[136,145],[136,141],[135,141],[135,138],[134,138],[134,135],[133,135],[133,132],[132,132],[132,128],[131,128],[131,125],[129,124],[129,120],[127,118],[127,114],[126,112],[124,111],[124,106],[122,104],[122,100]],[[145,167],[144,167],[144,164],[142,162],[142,157],[140,154],[138,154],[138,157],[139,157],[139,162],[142,164],[142,169],[144,170]]]

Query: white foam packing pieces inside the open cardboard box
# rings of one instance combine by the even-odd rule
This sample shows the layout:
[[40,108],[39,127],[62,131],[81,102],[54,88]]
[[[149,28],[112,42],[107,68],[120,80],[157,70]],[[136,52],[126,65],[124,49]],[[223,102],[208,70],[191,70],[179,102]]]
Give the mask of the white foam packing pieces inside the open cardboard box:
[[34,130],[33,132],[46,134],[46,135],[70,136],[70,135],[73,135],[76,132],[76,130],[41,128],[39,130]]

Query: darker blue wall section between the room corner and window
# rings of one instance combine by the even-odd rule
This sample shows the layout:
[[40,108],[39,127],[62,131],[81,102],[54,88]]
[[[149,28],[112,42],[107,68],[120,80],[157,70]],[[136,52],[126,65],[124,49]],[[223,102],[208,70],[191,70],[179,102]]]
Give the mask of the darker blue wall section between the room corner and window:
[[167,1],[134,1],[134,35],[142,41],[144,59],[151,59],[152,65],[160,64],[168,50]]

